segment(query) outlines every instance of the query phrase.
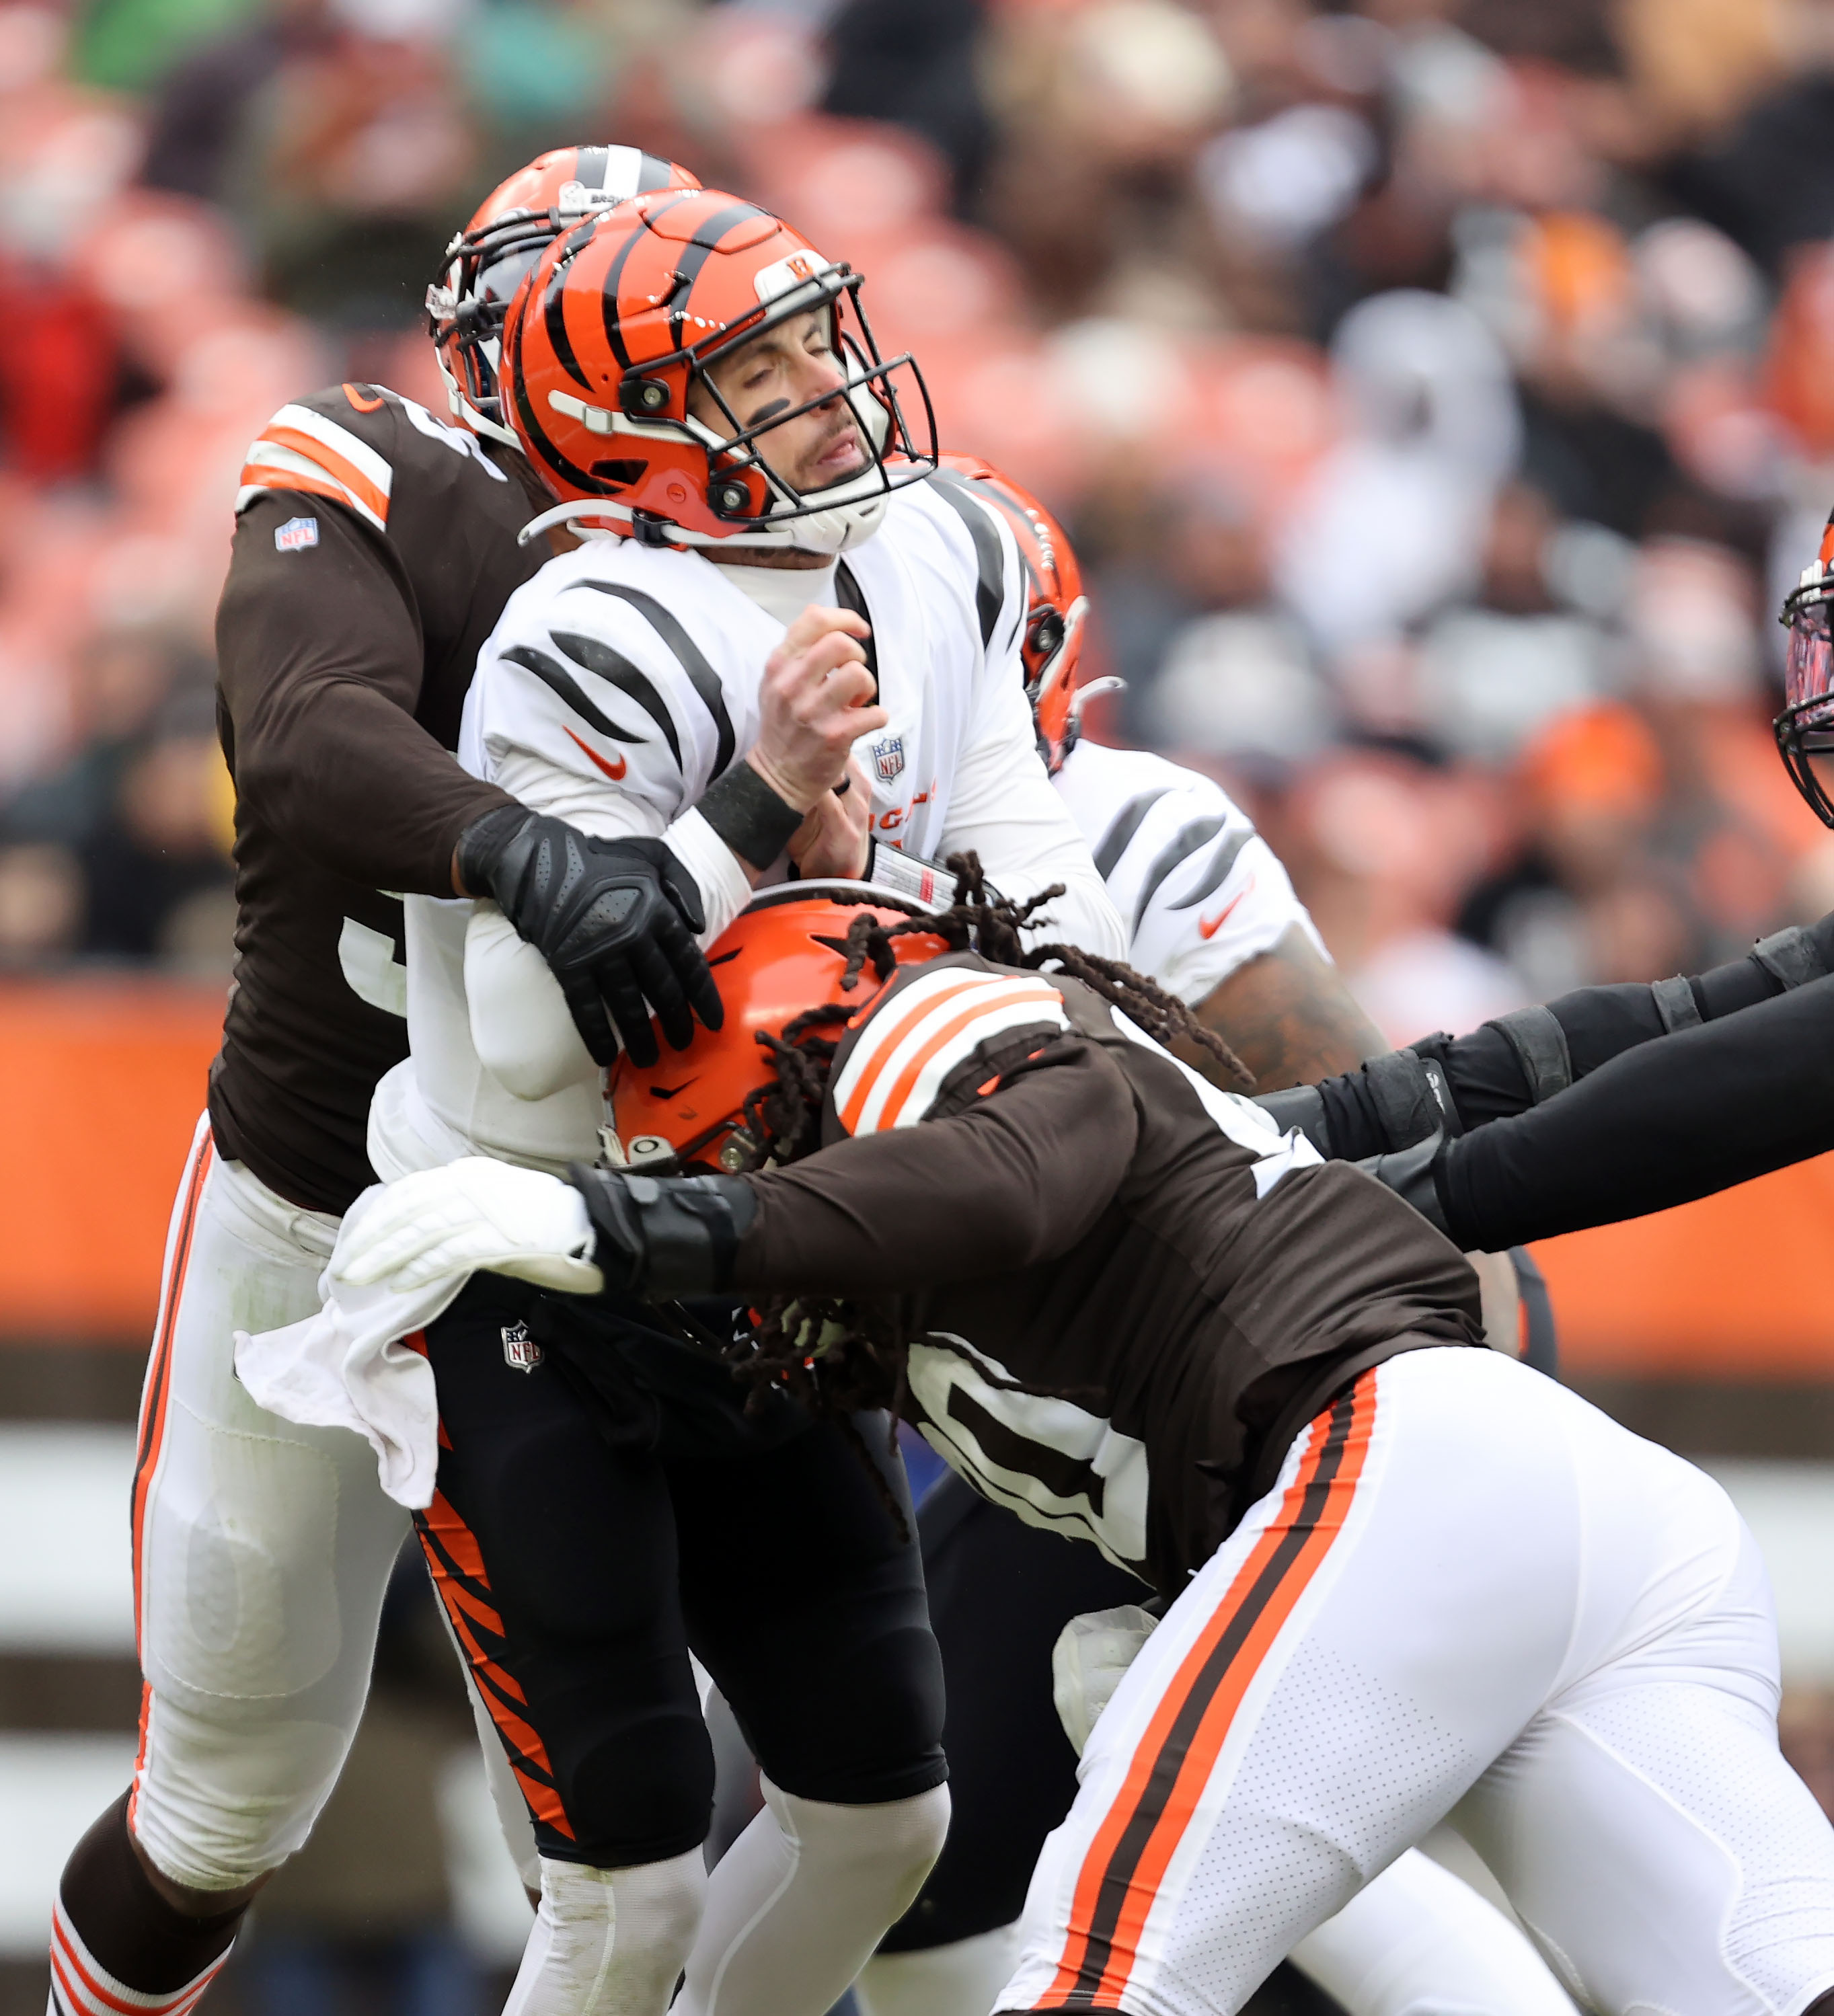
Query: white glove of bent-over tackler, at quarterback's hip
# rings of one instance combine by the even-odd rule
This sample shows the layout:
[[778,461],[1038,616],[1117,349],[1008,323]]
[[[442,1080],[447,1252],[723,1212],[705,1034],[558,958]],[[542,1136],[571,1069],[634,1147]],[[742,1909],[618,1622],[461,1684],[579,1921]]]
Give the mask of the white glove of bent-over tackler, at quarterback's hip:
[[353,1288],[423,1288],[441,1274],[514,1274],[562,1294],[599,1294],[586,1200],[540,1169],[466,1155],[419,1169],[351,1206],[331,1272]]

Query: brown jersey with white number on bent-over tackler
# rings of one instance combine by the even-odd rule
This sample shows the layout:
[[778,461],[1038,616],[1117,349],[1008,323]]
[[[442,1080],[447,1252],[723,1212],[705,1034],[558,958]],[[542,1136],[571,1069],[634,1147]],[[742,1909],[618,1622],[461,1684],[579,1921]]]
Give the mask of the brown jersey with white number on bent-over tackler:
[[1449,1240],[1060,974],[907,968],[822,1125],[748,1177],[736,1288],[889,1302],[935,1450],[1159,1589],[1358,1371],[1481,1343]]

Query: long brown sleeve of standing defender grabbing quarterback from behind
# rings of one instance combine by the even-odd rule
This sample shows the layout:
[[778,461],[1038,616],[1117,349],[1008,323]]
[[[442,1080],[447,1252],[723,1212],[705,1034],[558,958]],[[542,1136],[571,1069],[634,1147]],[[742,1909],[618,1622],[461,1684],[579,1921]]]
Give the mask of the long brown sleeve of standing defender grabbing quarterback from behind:
[[316,542],[276,550],[302,502],[262,496],[236,522],[216,623],[236,794],[335,875],[453,895],[460,833],[514,800],[415,720],[425,645],[393,544],[312,498]]

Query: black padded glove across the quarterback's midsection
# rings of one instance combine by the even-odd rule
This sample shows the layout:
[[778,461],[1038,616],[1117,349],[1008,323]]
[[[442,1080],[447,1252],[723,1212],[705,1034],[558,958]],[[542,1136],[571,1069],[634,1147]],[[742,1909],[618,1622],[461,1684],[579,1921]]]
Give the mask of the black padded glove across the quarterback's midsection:
[[677,1050],[695,1016],[707,1028],[726,1020],[693,941],[707,925],[701,893],[661,841],[599,841],[504,804],[460,835],[457,869],[548,962],[595,1062],[613,1062],[623,1038],[631,1062],[653,1064],[651,1008]]

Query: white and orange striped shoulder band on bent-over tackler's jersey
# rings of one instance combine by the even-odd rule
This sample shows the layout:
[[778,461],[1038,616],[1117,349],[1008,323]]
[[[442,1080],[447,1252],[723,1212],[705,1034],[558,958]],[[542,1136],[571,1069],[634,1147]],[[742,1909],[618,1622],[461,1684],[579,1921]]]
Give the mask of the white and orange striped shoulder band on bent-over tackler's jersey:
[[1064,996],[1030,974],[923,974],[879,1008],[834,1079],[834,1113],[853,1135],[915,1127],[943,1081],[994,1036],[1066,1030]]

